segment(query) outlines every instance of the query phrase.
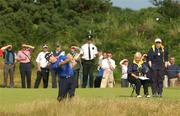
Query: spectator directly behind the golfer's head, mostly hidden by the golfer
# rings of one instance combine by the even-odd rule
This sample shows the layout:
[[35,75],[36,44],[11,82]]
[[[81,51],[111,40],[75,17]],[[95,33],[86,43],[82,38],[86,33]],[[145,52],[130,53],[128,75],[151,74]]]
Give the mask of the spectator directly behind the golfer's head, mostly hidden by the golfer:
[[[59,58],[61,55],[65,56],[65,52],[61,50],[60,45],[56,45],[56,49],[52,51],[52,54],[56,57]],[[51,70],[51,77],[52,77],[52,88],[57,88],[57,81],[56,81],[56,76],[58,75],[58,72],[56,70]]]

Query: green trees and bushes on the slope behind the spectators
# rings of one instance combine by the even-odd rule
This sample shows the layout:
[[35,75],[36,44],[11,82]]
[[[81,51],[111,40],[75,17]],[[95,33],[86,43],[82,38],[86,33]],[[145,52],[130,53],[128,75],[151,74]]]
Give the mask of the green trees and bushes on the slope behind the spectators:
[[98,48],[112,51],[119,62],[136,51],[146,53],[160,37],[180,63],[180,5],[172,0],[153,4],[157,7],[133,11],[114,8],[110,0],[0,0],[0,41],[16,49],[21,42],[37,49],[60,43],[67,50],[71,43],[82,44],[91,30]]

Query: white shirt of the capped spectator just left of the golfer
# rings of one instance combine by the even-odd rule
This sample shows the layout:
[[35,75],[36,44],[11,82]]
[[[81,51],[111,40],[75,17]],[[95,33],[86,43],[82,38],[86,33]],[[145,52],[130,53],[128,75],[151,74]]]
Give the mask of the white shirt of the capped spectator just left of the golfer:
[[48,61],[45,58],[45,55],[48,52],[40,52],[36,58],[36,62],[40,64],[41,68],[46,68],[48,65]]

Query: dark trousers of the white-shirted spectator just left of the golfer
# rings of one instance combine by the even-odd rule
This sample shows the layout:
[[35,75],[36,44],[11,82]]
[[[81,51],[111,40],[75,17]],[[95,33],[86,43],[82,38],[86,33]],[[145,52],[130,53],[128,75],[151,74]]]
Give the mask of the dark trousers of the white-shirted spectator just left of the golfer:
[[38,88],[39,84],[43,79],[43,87],[48,87],[48,80],[49,80],[49,69],[48,68],[41,68],[41,71],[37,71],[37,78],[34,84],[34,88]]

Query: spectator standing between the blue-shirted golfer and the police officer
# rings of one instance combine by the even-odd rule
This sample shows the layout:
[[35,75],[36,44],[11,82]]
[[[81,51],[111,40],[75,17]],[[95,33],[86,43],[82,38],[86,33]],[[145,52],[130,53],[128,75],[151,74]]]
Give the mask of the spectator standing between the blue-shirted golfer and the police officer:
[[79,77],[80,77],[80,69],[81,69],[81,59],[80,59],[80,48],[75,46],[75,45],[71,45],[70,47],[70,53],[67,55],[70,57],[72,57],[72,61],[70,62],[73,71],[74,71],[74,77],[75,77],[75,86],[76,88],[79,87]]

